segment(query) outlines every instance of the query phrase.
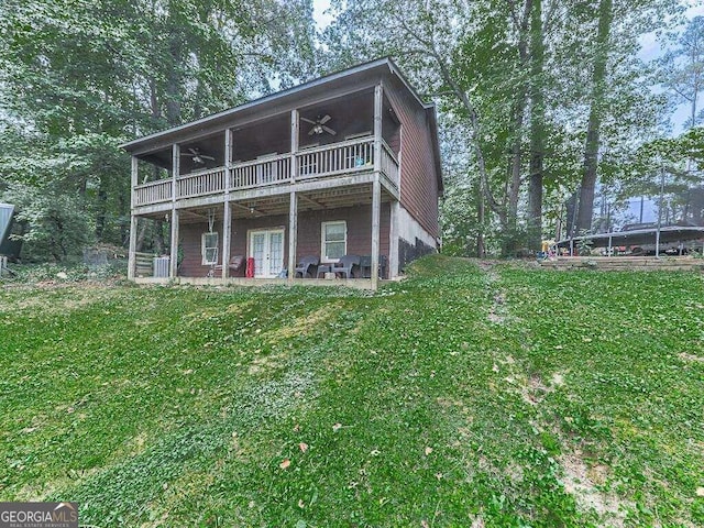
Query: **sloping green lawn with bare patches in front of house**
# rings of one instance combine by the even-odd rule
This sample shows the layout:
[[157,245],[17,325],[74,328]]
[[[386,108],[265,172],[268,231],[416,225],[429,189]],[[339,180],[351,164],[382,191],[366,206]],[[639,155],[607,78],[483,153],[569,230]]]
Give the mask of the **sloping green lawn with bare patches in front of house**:
[[0,292],[1,501],[107,526],[701,526],[704,280],[429,257]]

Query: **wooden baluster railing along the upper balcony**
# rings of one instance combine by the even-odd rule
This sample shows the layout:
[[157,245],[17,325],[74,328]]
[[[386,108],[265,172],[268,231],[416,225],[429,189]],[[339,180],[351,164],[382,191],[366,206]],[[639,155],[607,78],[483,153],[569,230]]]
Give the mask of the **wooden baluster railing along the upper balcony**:
[[[297,179],[312,179],[374,169],[374,139],[360,138],[298,152]],[[398,161],[382,142],[382,173],[398,188]],[[230,190],[242,190],[292,182],[292,155],[238,163],[230,169]],[[134,188],[134,205],[146,206],[172,200],[173,180],[158,179]],[[223,193],[226,168],[216,167],[186,174],[176,179],[176,198]]]

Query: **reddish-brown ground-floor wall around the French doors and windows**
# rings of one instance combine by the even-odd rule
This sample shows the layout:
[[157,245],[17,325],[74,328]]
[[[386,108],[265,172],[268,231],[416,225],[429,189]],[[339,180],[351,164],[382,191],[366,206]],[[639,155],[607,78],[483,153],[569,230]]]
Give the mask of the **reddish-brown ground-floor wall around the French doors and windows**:
[[[372,253],[372,207],[359,206],[342,209],[300,212],[298,216],[298,245],[296,260],[306,255],[320,256],[320,227],[322,222],[344,220],[348,227],[348,253],[370,255]],[[382,204],[380,224],[380,254],[388,258],[391,208]],[[284,267],[288,262],[288,215],[238,219],[232,221],[232,241],[230,255],[248,255],[248,231],[253,229],[284,229]],[[216,222],[218,231],[218,253],[222,252],[222,223]],[[207,223],[190,223],[180,227],[180,245],[183,262],[178,272],[182,277],[205,277],[210,266],[201,265],[200,240],[208,231]],[[222,261],[222,258],[219,258]],[[244,276],[244,266],[234,276]]]

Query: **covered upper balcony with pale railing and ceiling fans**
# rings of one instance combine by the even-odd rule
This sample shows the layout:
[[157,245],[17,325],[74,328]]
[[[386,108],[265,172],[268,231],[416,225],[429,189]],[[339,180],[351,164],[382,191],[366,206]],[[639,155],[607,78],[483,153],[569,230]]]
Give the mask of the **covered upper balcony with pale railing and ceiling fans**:
[[378,152],[383,187],[398,198],[400,124],[384,100],[376,151],[374,92],[364,89],[295,111],[232,123],[138,154],[148,164],[133,186],[136,213],[196,207],[226,199],[367,184]]

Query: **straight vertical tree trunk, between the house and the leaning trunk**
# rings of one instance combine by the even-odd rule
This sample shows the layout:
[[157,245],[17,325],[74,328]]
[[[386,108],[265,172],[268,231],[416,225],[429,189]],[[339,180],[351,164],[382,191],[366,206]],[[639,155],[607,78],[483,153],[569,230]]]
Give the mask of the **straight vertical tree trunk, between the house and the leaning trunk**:
[[542,0],[534,0],[530,16],[530,179],[528,182],[528,248],[542,246],[542,176],[544,160],[544,42]]

